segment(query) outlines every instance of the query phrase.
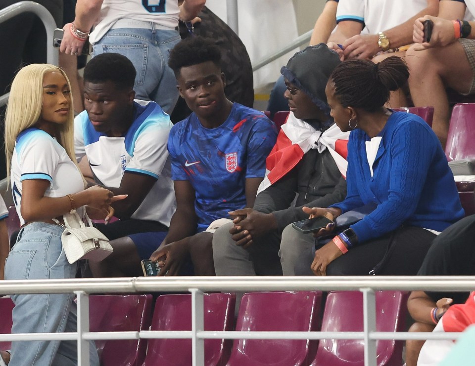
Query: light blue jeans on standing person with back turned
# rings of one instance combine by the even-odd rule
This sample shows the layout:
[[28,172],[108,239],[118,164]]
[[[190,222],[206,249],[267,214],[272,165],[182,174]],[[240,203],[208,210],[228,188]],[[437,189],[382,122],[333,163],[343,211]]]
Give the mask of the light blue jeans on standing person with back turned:
[[135,66],[136,99],[153,100],[170,114],[178,100],[177,80],[168,67],[169,51],[180,41],[172,30],[116,28],[109,30],[94,45],[93,57],[115,52]]

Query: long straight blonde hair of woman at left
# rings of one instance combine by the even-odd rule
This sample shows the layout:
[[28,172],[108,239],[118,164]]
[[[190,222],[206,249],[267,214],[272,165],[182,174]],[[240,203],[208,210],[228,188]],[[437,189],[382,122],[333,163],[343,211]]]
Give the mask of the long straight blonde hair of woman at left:
[[[11,84],[10,97],[5,113],[5,156],[6,171],[9,181],[11,158],[15,148],[15,140],[21,131],[32,127],[40,119],[43,106],[43,79],[49,72],[59,72],[71,85],[65,72],[50,64],[32,64],[22,68]],[[69,158],[76,163],[74,154],[74,108],[71,99],[68,120],[58,125],[59,135],[55,136],[58,143],[66,150]]]

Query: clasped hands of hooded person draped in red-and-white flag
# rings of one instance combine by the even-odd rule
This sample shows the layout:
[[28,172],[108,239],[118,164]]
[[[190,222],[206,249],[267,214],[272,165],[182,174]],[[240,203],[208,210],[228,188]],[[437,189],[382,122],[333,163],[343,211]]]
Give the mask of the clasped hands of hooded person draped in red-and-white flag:
[[252,208],[229,212],[235,226],[230,230],[233,240],[244,248],[252,244],[254,238],[261,237],[277,229],[277,221],[272,213],[263,213]]

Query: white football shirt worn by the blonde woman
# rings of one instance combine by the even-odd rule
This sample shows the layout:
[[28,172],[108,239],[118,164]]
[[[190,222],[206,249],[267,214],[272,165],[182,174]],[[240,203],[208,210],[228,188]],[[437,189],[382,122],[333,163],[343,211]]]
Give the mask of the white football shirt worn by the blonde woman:
[[10,176],[13,202],[21,225],[25,223],[21,216],[24,180],[49,181],[45,197],[64,197],[84,190],[83,177],[66,150],[47,132],[35,127],[22,131],[16,138]]

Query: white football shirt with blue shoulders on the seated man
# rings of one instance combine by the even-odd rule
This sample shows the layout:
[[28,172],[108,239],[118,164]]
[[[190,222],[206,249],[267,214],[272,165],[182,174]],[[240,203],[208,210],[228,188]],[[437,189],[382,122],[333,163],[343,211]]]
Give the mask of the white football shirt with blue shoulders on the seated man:
[[95,131],[87,111],[80,113],[74,120],[76,159],[87,155],[92,171],[106,187],[119,187],[126,171],[155,178],[155,184],[131,217],[170,226],[176,209],[167,151],[172,122],[153,101],[136,100],[134,104],[134,122],[122,137]]

